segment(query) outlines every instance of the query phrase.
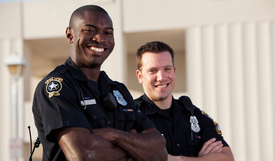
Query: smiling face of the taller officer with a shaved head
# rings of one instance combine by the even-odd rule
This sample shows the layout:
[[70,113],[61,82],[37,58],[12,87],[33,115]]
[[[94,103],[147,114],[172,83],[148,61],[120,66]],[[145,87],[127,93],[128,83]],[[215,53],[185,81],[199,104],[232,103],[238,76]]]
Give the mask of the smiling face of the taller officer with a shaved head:
[[85,11],[72,29],[66,30],[70,56],[78,67],[96,68],[114,49],[114,29],[109,15]]

